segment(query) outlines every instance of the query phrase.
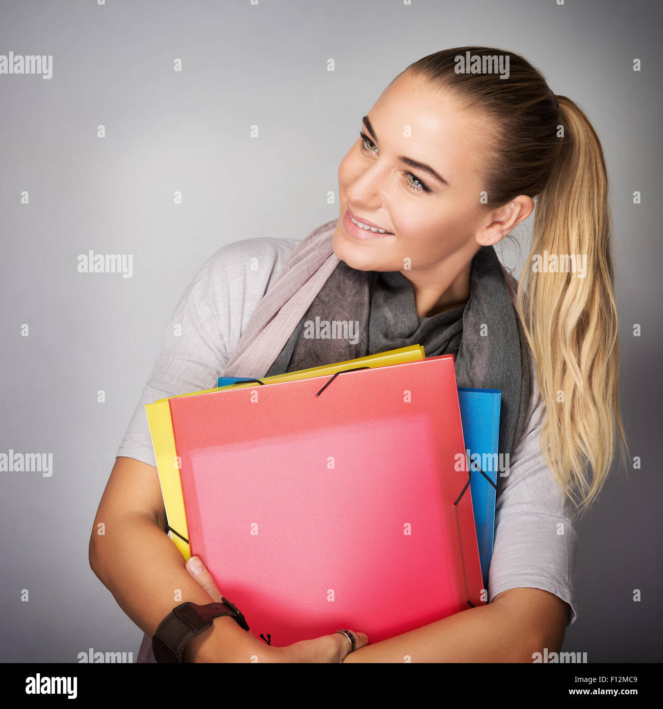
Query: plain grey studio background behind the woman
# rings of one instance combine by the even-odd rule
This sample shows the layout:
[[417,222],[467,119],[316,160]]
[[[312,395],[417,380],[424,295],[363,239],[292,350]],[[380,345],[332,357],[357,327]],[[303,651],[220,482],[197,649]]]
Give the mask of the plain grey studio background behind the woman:
[[[564,650],[586,652],[590,662],[662,659],[657,2],[76,0],[0,8],[0,54],[52,55],[50,79],[0,74],[0,452],[52,453],[50,477],[0,473],[2,661],[77,662],[89,648],[135,659],[142,632],[89,569],[88,540],[182,292],[225,244],[302,239],[338,216],[327,193],[338,191],[338,164],[361,117],[409,63],[467,44],[523,54],[553,91],[579,103],[603,142],[623,414],[642,467],[615,472],[579,525],[579,618]],[[508,246],[503,260],[518,276],[526,225],[516,235],[521,249]],[[78,256],[90,250],[132,255],[131,277],[79,273]]]

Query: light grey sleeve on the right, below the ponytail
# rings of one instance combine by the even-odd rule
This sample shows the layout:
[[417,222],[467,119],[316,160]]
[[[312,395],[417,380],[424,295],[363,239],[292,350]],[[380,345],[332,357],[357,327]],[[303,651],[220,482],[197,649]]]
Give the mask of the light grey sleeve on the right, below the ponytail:
[[[536,373],[530,358],[533,391]],[[564,496],[540,448],[545,405],[536,393],[528,423],[513,450],[496,501],[495,542],[489,570],[489,602],[508,588],[542,588],[570,606],[567,626],[577,617],[574,574],[578,536],[576,506]]]

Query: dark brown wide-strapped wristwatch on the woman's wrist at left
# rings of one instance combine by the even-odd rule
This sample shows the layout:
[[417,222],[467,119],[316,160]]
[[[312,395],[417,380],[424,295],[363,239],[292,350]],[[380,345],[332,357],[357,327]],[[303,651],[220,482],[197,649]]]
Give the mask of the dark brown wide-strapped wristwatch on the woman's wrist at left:
[[221,603],[197,605],[186,601],[173,608],[159,623],[152,637],[152,652],[157,662],[182,662],[182,653],[186,644],[196,635],[212,627],[214,618],[220,615],[230,615],[244,630],[249,626],[236,605],[228,598],[221,597]]

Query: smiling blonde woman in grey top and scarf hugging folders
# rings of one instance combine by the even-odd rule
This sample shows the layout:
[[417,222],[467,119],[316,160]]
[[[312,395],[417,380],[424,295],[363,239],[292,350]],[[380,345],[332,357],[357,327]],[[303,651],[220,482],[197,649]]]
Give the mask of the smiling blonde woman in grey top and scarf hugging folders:
[[[508,76],[497,72],[504,65]],[[419,343],[427,357],[455,355],[459,386],[502,392],[499,450],[510,466],[490,602],[375,644],[358,628],[271,647],[221,616],[183,659],[531,662],[559,651],[576,618],[574,521],[624,441],[598,137],[523,57],[455,48],[391,82],[338,178],[338,220],[302,242],[223,247],[186,290],[101,498],[91,566],[145,632],[140,661],[154,661],[150,638],[174,606],[221,601],[223,588],[200,559],[185,565],[165,534],[145,404],[208,389],[219,374],[277,374]],[[516,296],[493,247],[533,211]],[[359,335],[306,338],[313,316],[357,320]]]

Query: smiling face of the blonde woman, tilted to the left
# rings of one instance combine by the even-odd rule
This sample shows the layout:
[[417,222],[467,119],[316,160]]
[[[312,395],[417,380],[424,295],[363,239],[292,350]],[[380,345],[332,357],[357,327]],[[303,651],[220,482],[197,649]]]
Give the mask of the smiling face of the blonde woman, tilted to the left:
[[[486,222],[480,203],[491,145],[486,121],[408,73],[385,89],[367,118],[366,138],[338,168],[335,254],[355,269],[403,271],[414,279],[419,272],[426,281],[440,269],[469,268]],[[351,216],[390,233],[357,227]]]

